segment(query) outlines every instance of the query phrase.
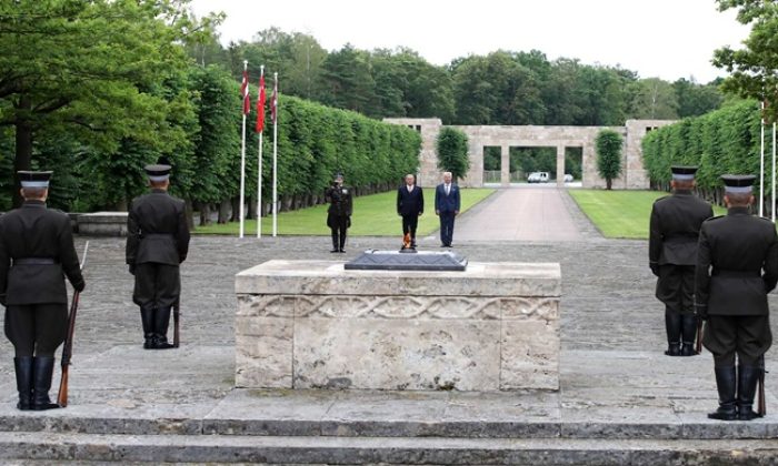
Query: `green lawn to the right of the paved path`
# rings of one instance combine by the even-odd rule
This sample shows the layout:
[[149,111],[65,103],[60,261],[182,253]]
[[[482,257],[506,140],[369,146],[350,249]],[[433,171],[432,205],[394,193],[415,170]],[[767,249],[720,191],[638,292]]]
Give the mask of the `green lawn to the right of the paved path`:
[[[651,205],[660,191],[569,190],[581,211],[606,237],[648,239]],[[720,215],[725,210],[714,206]]]

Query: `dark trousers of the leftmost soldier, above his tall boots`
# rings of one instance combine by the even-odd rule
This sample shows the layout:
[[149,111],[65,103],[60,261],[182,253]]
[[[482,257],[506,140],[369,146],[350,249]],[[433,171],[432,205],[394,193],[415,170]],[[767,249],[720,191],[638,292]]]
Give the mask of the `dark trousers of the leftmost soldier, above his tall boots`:
[[4,327],[17,357],[51,357],[68,332],[68,306],[56,303],[9,305]]

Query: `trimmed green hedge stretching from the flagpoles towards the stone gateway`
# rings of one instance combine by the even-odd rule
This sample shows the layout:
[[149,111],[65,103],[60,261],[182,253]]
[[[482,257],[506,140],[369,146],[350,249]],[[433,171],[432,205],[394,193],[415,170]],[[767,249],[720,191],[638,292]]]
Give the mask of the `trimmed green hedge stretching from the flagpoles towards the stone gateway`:
[[[269,116],[268,112],[262,164],[266,202],[271,201],[272,189]],[[278,121],[278,193],[282,210],[322,202],[323,191],[337,172],[361,195],[396,189],[406,173],[418,171],[421,136],[407,126],[288,95],[279,98]],[[256,153],[256,140],[253,145]]]

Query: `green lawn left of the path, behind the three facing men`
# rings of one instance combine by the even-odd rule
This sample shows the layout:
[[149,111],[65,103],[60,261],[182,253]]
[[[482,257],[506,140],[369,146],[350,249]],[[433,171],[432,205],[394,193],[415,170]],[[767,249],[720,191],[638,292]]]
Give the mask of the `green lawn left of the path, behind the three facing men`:
[[[462,212],[481,202],[491,189],[462,189]],[[353,215],[349,234],[358,236],[401,236],[402,223],[397,215],[397,191],[355,197]],[[238,223],[198,226],[197,234],[238,234]],[[422,236],[438,230],[435,215],[435,189],[425,188],[425,214],[419,217],[417,235]],[[272,217],[262,219],[262,234],[272,233]],[[257,221],[246,221],[246,235],[257,234]],[[327,227],[327,205],[317,205],[299,211],[278,214],[278,234],[283,235],[329,235]]]

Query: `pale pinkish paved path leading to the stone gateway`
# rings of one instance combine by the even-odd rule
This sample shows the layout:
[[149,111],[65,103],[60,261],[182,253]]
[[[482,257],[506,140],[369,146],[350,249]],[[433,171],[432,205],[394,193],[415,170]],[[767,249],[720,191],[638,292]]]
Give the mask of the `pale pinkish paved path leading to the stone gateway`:
[[555,186],[501,189],[466,212],[453,229],[460,241],[579,241],[565,190]]

